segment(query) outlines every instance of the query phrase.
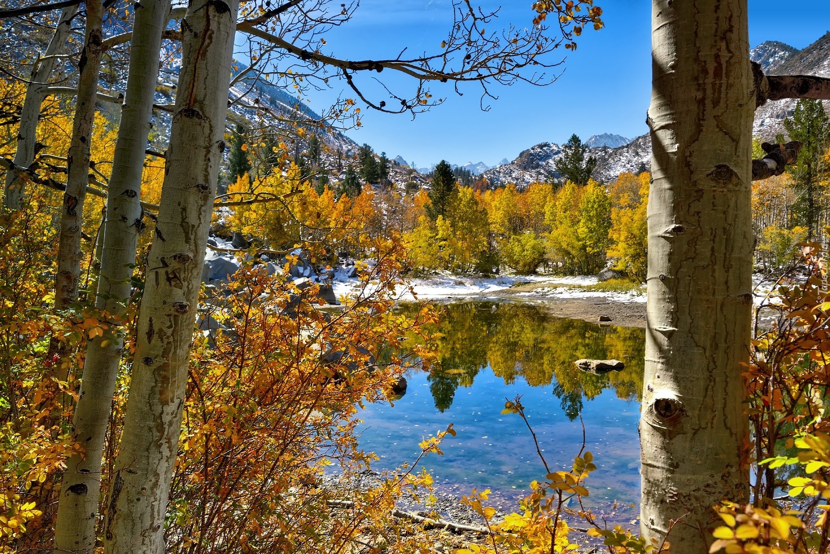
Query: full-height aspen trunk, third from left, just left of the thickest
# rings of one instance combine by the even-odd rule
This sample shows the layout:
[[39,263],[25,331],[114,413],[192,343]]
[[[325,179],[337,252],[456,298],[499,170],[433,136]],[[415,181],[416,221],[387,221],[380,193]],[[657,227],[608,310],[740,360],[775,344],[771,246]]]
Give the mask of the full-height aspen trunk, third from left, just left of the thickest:
[[[139,202],[144,150],[159,77],[159,51],[170,0],[134,4],[133,40],[125,102],[121,107],[110,186],[107,194],[96,306],[109,312],[110,331],[120,332],[129,298],[132,264],[143,228]],[[75,441],[84,453],[71,456],[63,473],[55,532],[56,552],[94,552],[95,522],[100,501],[101,457],[112,395],[124,348],[121,336],[108,333],[89,341],[75,408]]]

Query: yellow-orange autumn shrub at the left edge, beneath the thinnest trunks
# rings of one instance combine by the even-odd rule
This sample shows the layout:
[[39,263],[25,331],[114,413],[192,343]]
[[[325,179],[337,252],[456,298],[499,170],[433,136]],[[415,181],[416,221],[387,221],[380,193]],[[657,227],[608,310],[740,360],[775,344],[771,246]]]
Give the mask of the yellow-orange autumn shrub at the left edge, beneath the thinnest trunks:
[[[27,200],[26,208],[0,214],[0,552],[26,552],[48,539],[54,477],[76,449],[69,422],[80,360],[73,347],[85,336],[83,316],[51,312],[54,199],[31,188]],[[65,366],[46,360],[52,337],[68,345]]]

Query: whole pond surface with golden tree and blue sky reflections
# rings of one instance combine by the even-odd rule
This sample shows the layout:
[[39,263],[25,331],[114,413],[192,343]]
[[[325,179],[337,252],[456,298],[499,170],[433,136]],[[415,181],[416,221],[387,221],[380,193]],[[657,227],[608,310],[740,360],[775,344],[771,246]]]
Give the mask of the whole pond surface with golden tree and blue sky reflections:
[[[369,404],[359,416],[361,447],[381,458],[374,468],[411,462],[419,441],[452,422],[457,437],[442,444],[445,455],[422,458],[420,465],[439,490],[490,488],[493,505],[516,509],[529,483],[544,478],[519,416],[500,413],[505,398],[522,395],[551,470],[570,469],[583,442],[582,415],[586,449],[598,466],[588,478],[589,506],[608,514],[618,501],[613,522],[636,517],[644,330],[555,318],[509,302],[444,310],[438,363],[429,372],[411,370],[406,395],[393,405]],[[616,358],[626,369],[592,375],[577,369],[579,358]]]

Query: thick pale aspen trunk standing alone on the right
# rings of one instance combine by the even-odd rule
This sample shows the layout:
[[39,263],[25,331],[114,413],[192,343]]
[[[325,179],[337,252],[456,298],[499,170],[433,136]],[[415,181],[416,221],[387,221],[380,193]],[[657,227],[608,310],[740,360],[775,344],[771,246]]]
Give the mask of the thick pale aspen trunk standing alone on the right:
[[652,0],[652,67],[641,532],[702,554],[712,507],[749,495],[747,0]]

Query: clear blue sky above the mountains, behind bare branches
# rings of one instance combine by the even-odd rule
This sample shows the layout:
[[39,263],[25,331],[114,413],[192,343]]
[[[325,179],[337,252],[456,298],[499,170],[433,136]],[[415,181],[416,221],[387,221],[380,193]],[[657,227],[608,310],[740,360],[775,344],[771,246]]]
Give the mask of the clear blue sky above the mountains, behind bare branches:
[[[530,22],[531,0],[486,3],[502,7],[501,27],[508,22]],[[432,88],[447,97],[443,105],[419,114],[388,115],[362,110],[363,126],[347,133],[359,144],[369,143],[378,153],[398,154],[419,167],[441,159],[464,164],[496,164],[514,159],[521,150],[543,141],[562,143],[576,133],[613,133],[629,138],[647,132],[646,110],[651,88],[651,2],[598,0],[605,28],[586,31],[579,47],[569,53],[552,85],[519,83],[494,87],[499,96],[480,107],[481,92],[473,84],[457,96],[452,86]],[[782,7],[780,0],[749,0],[749,42],[778,40],[803,48],[830,30],[830,2],[803,0]],[[450,0],[362,0],[352,21],[326,35],[326,53],[352,59],[393,57],[402,47],[409,51],[436,51],[452,22]],[[565,51],[564,51],[565,52]],[[384,82],[406,86],[406,80],[383,73]],[[410,83],[410,89],[412,85]],[[340,93],[333,89],[310,95],[320,111]]]

